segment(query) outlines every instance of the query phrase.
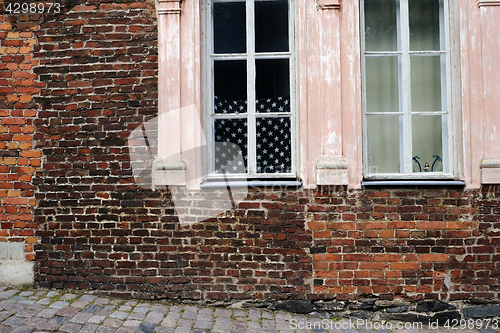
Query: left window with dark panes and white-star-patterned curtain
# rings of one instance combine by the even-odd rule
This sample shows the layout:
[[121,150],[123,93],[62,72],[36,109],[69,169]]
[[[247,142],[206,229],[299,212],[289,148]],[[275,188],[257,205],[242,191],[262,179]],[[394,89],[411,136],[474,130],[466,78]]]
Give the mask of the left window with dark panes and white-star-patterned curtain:
[[288,0],[212,0],[209,174],[295,176]]

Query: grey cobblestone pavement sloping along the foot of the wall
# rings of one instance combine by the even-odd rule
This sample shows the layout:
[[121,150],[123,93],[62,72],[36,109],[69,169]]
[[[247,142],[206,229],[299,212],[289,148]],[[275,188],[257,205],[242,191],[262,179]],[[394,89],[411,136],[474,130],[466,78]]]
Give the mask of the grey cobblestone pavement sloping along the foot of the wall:
[[[391,326],[389,326],[391,325]],[[104,298],[91,292],[0,287],[0,333],[342,332],[494,333],[417,323],[326,320],[265,309],[228,309]]]

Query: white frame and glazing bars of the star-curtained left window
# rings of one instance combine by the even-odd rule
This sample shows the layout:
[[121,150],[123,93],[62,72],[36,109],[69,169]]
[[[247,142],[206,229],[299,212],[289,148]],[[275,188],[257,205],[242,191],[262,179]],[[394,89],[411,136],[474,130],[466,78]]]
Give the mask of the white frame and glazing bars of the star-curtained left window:
[[[254,34],[254,2],[255,0],[206,0],[203,1],[204,6],[204,23],[203,26],[206,27],[204,38],[203,38],[203,101],[204,101],[204,129],[205,137],[207,139],[207,151],[204,163],[204,179],[205,180],[221,180],[221,179],[235,179],[241,180],[242,178],[248,179],[278,179],[278,178],[297,178],[298,170],[298,104],[297,104],[297,70],[296,70],[296,52],[295,51],[295,1],[288,0],[289,12],[288,12],[288,31],[289,31],[289,51],[288,52],[266,52],[258,53],[255,52],[255,34]],[[214,54],[213,53],[213,21],[212,21],[212,3],[213,2],[246,2],[246,53],[241,54]],[[273,113],[257,113],[255,103],[250,103],[250,101],[255,101],[255,60],[256,59],[285,59],[288,57],[290,64],[290,112],[273,112]],[[230,119],[238,118],[244,119],[242,114],[215,114],[213,109],[214,101],[214,72],[213,63],[214,60],[246,60],[247,61],[247,113],[246,119],[248,122],[248,173],[215,173],[215,161],[214,161],[214,119]],[[252,89],[253,88],[253,89]],[[243,114],[244,115],[244,114]],[[290,129],[291,129],[291,172],[290,173],[257,173],[256,168],[256,118],[257,117],[279,117],[279,116],[289,116],[290,117]]]

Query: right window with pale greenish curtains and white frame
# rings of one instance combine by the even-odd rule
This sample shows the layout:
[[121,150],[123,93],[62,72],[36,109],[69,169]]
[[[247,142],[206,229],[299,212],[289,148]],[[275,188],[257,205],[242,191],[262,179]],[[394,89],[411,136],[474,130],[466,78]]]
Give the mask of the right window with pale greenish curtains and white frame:
[[447,1],[361,8],[364,177],[452,177]]

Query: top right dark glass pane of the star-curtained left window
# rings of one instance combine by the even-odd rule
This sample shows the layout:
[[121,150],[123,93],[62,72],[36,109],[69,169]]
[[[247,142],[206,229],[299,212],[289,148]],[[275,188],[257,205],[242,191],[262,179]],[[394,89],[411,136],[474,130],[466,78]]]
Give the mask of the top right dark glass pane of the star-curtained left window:
[[288,52],[288,0],[255,1],[255,51]]

